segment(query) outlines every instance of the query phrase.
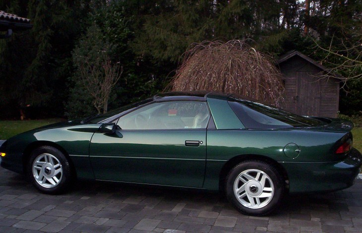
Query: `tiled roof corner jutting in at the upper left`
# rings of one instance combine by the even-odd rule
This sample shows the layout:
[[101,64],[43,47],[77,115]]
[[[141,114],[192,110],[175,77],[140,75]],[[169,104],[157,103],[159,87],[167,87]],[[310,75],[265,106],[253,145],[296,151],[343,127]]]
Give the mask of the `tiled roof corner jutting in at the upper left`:
[[19,17],[15,14],[9,14],[0,10],[0,31],[29,29],[33,25],[30,19]]

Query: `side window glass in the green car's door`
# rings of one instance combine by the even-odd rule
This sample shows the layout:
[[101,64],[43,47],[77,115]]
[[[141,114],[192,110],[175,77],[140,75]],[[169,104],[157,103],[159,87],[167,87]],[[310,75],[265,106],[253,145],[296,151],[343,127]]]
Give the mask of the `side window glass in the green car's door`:
[[210,118],[206,102],[170,101],[147,105],[118,121],[121,129],[206,128]]

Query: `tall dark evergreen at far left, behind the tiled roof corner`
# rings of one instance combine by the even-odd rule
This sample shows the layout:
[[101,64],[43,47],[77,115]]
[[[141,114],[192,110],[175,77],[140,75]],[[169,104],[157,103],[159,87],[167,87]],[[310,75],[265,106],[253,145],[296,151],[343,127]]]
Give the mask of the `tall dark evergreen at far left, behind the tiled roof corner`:
[[83,0],[17,0],[1,6],[33,24],[30,31],[1,41],[1,106],[11,109],[12,116],[26,106],[27,117],[34,112],[60,115],[70,51],[86,11]]

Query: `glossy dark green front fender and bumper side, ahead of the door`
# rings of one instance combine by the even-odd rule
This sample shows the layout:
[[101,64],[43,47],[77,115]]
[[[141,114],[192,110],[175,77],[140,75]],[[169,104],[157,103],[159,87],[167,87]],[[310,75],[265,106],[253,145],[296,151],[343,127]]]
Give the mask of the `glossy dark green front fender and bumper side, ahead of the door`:
[[24,173],[24,163],[34,146],[57,145],[69,156],[78,177],[94,178],[89,161],[90,140],[100,124],[81,124],[60,128],[34,129],[18,134],[2,146],[6,156],[0,166],[8,170]]

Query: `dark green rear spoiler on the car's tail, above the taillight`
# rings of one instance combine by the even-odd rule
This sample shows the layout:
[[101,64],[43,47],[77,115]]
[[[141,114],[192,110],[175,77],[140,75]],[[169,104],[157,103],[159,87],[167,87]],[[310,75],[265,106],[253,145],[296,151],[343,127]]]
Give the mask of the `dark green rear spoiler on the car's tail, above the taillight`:
[[332,131],[332,132],[344,132],[348,133],[354,128],[354,124],[345,119],[329,118],[329,117],[310,117],[323,121],[323,124],[309,127],[315,130]]

